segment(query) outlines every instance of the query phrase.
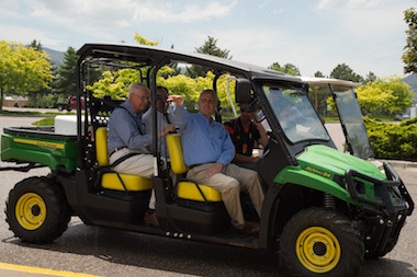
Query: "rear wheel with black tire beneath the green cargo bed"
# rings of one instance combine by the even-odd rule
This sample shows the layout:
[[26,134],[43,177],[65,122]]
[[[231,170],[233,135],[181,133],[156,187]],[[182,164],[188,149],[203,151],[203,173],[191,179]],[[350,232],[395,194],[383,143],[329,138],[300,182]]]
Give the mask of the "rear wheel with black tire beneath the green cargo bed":
[[5,201],[5,221],[24,242],[46,243],[68,228],[69,206],[63,188],[46,177],[19,182]]

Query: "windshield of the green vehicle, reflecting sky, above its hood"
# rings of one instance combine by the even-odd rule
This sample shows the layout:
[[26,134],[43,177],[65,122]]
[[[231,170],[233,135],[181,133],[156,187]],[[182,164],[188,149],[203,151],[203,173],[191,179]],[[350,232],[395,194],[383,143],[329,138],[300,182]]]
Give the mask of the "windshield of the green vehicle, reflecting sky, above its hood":
[[330,139],[304,90],[263,85],[263,91],[291,142]]

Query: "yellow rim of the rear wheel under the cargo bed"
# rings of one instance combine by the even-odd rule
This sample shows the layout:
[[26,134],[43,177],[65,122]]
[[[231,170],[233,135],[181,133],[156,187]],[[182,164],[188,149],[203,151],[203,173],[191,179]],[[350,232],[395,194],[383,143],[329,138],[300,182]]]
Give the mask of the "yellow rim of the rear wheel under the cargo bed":
[[37,194],[27,193],[22,195],[15,207],[18,222],[26,230],[40,228],[46,219],[46,205]]

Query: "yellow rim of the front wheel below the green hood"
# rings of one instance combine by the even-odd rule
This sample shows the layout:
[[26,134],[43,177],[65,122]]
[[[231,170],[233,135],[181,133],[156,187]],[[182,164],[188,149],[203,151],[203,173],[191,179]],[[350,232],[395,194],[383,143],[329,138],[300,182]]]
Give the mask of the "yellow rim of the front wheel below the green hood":
[[295,245],[298,261],[312,273],[328,273],[340,261],[339,241],[323,227],[305,229],[297,238]]

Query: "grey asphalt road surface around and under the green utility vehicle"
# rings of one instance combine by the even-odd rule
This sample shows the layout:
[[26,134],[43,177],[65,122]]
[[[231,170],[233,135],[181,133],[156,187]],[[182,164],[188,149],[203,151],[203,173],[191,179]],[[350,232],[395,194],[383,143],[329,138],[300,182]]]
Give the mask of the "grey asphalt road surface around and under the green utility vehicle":
[[[0,129],[4,126],[29,125],[35,120],[38,118],[2,116]],[[0,163],[0,166],[4,165],[7,163]],[[396,170],[414,199],[417,199],[417,169]],[[4,209],[9,191],[15,183],[47,173],[46,169],[29,173],[1,172],[0,208]],[[416,276],[415,230],[416,212],[408,218],[396,247],[383,258],[367,261],[359,276]],[[8,230],[3,212],[0,212],[0,263],[117,277],[285,276],[275,254],[91,227],[78,218],[72,218],[68,230],[54,243],[25,244]],[[0,270],[0,276],[4,273]],[[32,276],[14,274],[16,275],[13,276]]]

